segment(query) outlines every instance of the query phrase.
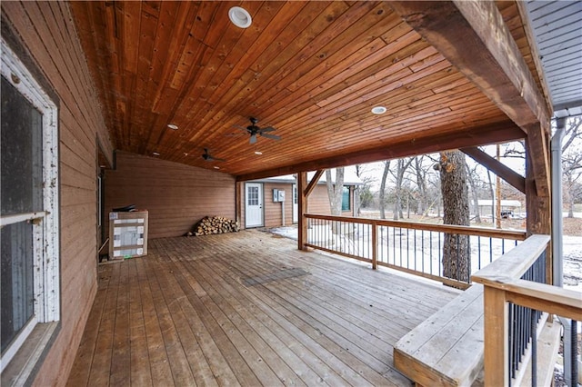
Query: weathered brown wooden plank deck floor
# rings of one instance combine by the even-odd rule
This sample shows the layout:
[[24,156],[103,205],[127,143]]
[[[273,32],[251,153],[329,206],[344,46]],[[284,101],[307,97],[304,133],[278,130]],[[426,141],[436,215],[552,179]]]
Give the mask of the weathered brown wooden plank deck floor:
[[409,385],[392,346],[457,292],[259,231],[99,266],[70,386]]

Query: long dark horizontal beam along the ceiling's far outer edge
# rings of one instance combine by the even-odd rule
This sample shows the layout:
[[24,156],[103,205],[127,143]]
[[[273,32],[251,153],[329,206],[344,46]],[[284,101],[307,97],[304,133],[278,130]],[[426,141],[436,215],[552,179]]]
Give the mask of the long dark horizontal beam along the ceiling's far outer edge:
[[264,179],[266,177],[296,174],[301,171],[336,168],[338,166],[366,164],[383,160],[392,160],[416,154],[432,154],[449,149],[459,149],[484,144],[507,143],[523,139],[524,132],[514,123],[505,122],[495,125],[479,126],[453,134],[439,134],[418,137],[410,140],[386,144],[374,149],[362,150],[325,159],[306,161],[300,164],[273,168],[254,174],[240,174],[236,181]]

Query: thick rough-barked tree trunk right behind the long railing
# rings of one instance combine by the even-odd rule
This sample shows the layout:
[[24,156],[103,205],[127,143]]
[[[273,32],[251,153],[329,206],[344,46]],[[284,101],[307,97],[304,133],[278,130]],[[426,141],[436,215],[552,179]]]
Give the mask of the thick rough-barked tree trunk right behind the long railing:
[[[467,164],[460,151],[440,154],[439,171],[445,224],[469,225]],[[468,282],[471,273],[468,235],[445,233],[443,276]]]

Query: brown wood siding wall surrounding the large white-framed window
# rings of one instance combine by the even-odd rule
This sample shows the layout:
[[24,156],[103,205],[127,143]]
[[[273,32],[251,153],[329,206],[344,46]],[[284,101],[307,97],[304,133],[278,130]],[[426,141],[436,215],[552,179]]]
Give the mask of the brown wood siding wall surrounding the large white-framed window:
[[[15,35],[25,65],[34,64],[59,100],[61,330],[35,385],[64,385],[96,292],[96,150],[112,146],[95,85],[64,2],[2,2],[3,35]],[[8,32],[5,34],[5,32]],[[34,73],[33,73],[34,74]]]

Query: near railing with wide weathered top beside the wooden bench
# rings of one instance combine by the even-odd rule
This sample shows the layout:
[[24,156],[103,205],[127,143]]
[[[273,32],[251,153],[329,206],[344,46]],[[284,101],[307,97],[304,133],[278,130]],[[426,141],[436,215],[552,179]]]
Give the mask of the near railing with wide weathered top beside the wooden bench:
[[[582,293],[566,290],[547,283],[537,283],[527,279],[525,274],[535,267],[538,260],[545,257],[549,243],[547,235],[533,235],[520,243],[515,249],[489,264],[473,275],[473,282],[482,283],[484,287],[485,308],[485,383],[486,386],[507,386],[517,384],[523,377],[519,372],[531,370],[532,384],[536,384],[537,364],[536,342],[537,312],[557,314],[573,320],[582,316]],[[534,269],[535,270],[535,269]],[[542,270],[543,271],[543,270]],[[531,356],[522,358],[518,372],[512,370],[512,348],[518,347],[520,338],[515,331],[516,317],[509,314],[515,310],[513,305],[526,308],[520,313],[530,319],[530,336],[527,337],[527,351]],[[516,314],[516,313],[512,313]],[[511,321],[510,321],[511,320]],[[527,321],[525,322],[527,324]],[[527,362],[531,362],[527,367]],[[543,365],[542,365],[543,366]],[[553,370],[554,364],[548,364]],[[551,371],[548,370],[548,371]]]

